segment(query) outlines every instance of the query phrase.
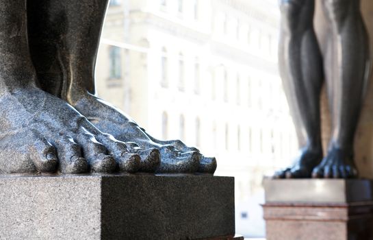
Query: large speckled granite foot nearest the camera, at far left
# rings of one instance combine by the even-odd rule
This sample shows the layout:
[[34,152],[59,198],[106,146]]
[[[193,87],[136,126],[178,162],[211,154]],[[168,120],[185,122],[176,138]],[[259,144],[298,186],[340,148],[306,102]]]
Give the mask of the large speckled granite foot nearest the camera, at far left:
[[140,156],[62,99],[27,86],[0,97],[0,173],[135,172]]

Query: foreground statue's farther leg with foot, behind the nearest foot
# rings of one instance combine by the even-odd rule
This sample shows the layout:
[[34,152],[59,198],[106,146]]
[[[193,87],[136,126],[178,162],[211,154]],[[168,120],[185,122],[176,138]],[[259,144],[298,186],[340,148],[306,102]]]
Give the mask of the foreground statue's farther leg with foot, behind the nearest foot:
[[[155,142],[125,113],[95,96],[94,65],[107,0],[28,2],[31,58],[45,91],[66,100],[97,128],[117,139],[135,142],[153,153],[155,149],[159,151],[160,167],[154,165],[158,172],[214,173],[215,158],[204,158],[196,149],[187,148],[179,141]],[[159,154],[153,155],[149,158],[142,154],[141,171],[154,171],[154,167],[146,165],[157,156],[159,161]]]

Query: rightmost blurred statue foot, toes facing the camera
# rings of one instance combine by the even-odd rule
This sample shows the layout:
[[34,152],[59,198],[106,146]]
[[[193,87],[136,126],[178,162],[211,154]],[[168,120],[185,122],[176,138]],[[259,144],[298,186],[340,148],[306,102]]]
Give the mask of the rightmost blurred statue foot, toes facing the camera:
[[357,178],[352,152],[332,147],[320,165],[312,172],[313,178]]

